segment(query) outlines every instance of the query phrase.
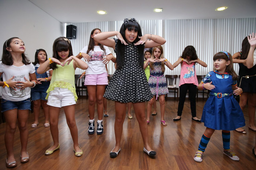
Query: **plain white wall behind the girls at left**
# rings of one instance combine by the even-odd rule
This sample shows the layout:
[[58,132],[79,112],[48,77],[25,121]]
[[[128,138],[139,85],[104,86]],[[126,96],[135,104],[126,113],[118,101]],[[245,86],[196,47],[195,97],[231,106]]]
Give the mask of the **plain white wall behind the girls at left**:
[[64,36],[65,25],[29,0],[0,0],[0,54],[10,37],[19,37],[26,46],[26,56],[34,62],[35,51],[46,50],[52,56],[53,41]]

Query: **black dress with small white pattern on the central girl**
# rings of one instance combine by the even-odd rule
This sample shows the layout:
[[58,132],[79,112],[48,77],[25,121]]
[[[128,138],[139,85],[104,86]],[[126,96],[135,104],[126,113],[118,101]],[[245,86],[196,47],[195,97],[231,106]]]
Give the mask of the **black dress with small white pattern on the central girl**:
[[[115,53],[117,54],[117,40]],[[137,46],[129,43],[125,46],[124,66],[114,72],[103,97],[121,103],[146,102],[153,98],[147,78],[139,63]]]

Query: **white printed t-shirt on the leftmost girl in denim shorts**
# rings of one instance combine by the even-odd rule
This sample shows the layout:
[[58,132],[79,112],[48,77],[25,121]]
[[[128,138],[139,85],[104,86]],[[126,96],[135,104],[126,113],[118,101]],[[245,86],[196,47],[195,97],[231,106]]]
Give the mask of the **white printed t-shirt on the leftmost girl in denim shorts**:
[[[14,76],[14,79],[12,79],[12,81],[26,82],[24,77],[29,80],[29,74],[33,74],[35,72],[35,68],[32,63],[16,67],[13,65],[7,66],[5,64],[2,64],[2,62],[0,61],[0,72],[3,73],[2,75],[4,82],[6,82],[12,76]],[[16,88],[16,90],[13,90],[12,88],[8,88],[7,86],[5,86],[2,91],[2,98],[13,102],[25,100],[27,98],[30,98],[30,87],[26,87],[23,90],[20,90],[18,88]]]

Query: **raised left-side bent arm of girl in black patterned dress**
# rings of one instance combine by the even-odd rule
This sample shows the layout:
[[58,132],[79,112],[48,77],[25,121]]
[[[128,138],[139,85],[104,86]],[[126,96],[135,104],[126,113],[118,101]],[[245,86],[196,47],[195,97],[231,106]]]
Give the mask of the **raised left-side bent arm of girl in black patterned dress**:
[[123,37],[121,36],[120,32],[118,31],[110,31],[110,32],[101,32],[93,36],[94,41],[97,41],[100,44],[103,44],[104,46],[111,47],[115,49],[115,41],[114,39],[109,39],[109,37],[117,36],[117,38],[124,44],[125,41]]

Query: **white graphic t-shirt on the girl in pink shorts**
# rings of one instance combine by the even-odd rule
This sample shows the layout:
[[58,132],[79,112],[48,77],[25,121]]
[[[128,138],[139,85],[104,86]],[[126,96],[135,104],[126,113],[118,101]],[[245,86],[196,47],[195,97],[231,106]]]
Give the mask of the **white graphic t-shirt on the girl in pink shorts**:
[[[105,53],[103,50],[101,50],[101,47],[94,46],[93,51],[91,50],[88,55],[90,56],[91,60],[90,62],[87,62],[88,68],[85,72],[85,74],[102,74],[106,71],[105,64],[102,63],[102,59],[105,58],[104,55],[109,55],[111,52],[107,46],[103,46],[105,48]],[[83,52],[86,54],[88,50],[88,46],[85,46],[80,52]]]

